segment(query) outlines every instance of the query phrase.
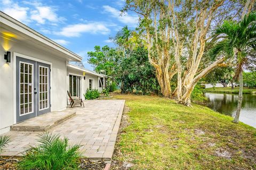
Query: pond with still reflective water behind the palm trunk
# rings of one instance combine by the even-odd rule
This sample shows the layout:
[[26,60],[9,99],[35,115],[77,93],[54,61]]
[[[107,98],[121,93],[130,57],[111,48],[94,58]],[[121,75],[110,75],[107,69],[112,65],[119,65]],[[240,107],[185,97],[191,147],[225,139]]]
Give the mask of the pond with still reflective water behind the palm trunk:
[[[214,111],[234,117],[236,114],[238,94],[215,94],[206,92]],[[256,94],[243,94],[243,102],[239,121],[256,128]]]

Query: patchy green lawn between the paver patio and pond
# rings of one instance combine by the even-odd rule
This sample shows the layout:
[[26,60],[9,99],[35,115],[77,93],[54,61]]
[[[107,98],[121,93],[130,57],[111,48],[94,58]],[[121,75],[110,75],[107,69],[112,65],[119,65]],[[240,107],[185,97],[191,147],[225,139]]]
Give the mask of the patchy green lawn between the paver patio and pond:
[[[124,113],[111,169],[256,169],[256,129],[194,104],[134,95]],[[123,127],[123,128],[122,128]]]

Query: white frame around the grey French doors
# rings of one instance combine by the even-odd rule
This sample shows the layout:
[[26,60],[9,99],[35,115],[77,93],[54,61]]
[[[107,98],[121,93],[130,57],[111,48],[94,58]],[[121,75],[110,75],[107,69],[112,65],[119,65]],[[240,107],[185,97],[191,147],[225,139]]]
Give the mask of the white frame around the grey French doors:
[[[13,84],[15,84],[15,86],[13,85],[13,124],[16,124],[17,123],[17,117],[16,117],[16,112],[17,112],[17,109],[16,109],[16,57],[22,57],[22,58],[26,58],[28,60],[33,60],[33,61],[36,61],[36,62],[41,62],[41,63],[45,63],[45,64],[49,64],[50,65],[50,69],[52,69],[52,63],[50,62],[46,62],[46,61],[43,61],[43,60],[40,60],[40,59],[37,59],[37,58],[34,58],[34,57],[30,57],[30,56],[27,56],[27,55],[23,55],[23,54],[19,54],[19,53],[16,53],[16,52],[13,52]],[[36,73],[35,73],[36,74]],[[50,72],[50,87],[52,87],[52,71]],[[52,102],[52,89],[50,89],[50,102]],[[51,105],[51,103],[49,104],[49,106]],[[52,111],[52,108],[50,107],[50,111]]]

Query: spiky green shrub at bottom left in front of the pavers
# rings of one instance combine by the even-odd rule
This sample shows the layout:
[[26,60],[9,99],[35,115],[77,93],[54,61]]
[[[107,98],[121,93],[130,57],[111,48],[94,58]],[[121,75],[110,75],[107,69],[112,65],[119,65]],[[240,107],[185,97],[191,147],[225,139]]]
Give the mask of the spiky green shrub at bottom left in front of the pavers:
[[20,169],[78,169],[81,145],[69,145],[68,138],[61,139],[51,133],[39,134],[38,145],[30,147],[18,163]]

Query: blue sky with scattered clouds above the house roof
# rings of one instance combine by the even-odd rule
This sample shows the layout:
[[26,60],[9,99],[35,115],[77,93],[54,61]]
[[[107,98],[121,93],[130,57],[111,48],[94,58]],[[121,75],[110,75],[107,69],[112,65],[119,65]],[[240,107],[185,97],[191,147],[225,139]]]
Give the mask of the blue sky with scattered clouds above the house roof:
[[138,17],[134,13],[120,16],[124,0],[0,0],[0,10],[44,36],[83,57],[95,45],[114,47],[109,37],[125,25],[134,29]]

